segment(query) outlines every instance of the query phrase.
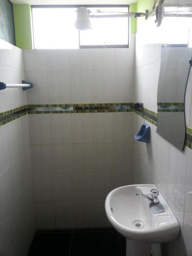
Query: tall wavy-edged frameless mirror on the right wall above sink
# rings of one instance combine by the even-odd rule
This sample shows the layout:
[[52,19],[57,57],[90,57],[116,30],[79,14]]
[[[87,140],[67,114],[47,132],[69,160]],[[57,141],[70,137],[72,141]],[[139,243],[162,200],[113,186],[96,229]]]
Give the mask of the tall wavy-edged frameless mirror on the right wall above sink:
[[[165,16],[161,68],[158,84],[157,133],[179,150],[185,144],[185,90],[192,56],[192,3],[168,4],[165,1]],[[174,30],[168,27],[172,24]],[[162,28],[163,29],[163,28]]]

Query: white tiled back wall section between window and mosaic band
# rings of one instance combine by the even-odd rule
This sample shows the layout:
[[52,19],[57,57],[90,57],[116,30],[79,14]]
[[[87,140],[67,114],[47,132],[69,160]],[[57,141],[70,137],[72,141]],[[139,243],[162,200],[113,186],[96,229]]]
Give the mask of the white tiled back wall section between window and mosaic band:
[[[131,35],[128,49],[23,50],[23,53],[25,79],[34,84],[33,90],[27,91],[28,104],[133,101],[135,35]],[[0,67],[1,72],[4,71]]]

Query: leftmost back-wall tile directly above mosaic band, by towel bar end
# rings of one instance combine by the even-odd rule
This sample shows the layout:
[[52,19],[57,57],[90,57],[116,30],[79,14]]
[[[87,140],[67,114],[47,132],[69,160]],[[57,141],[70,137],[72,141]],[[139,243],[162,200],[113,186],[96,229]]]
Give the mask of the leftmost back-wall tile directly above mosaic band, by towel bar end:
[[26,91],[28,104],[48,104],[47,71],[26,71],[25,80],[33,83]]

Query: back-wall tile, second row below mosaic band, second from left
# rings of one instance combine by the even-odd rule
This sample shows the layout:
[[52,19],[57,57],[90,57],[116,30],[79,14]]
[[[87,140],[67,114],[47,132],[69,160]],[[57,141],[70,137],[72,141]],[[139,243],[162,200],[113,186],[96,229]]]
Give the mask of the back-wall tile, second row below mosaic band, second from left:
[[73,172],[73,151],[72,144],[52,145],[53,172]]

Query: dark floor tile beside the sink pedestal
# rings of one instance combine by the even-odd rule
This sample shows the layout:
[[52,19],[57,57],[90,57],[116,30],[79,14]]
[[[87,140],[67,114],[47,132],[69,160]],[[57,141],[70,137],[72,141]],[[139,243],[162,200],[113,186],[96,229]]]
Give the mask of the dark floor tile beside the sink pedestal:
[[121,256],[115,230],[75,230],[70,256]]

